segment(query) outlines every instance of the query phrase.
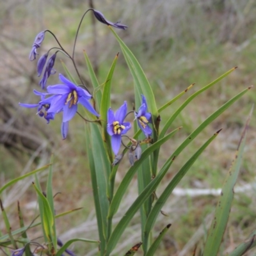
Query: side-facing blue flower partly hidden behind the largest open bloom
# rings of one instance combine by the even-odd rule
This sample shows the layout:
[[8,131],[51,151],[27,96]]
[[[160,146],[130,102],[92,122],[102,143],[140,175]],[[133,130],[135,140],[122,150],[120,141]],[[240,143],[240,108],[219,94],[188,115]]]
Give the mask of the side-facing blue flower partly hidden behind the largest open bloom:
[[52,97],[49,97],[49,98],[45,99],[45,96],[49,95],[49,93],[42,93],[42,92],[38,92],[36,90],[34,90],[34,93],[35,93],[35,95],[41,97],[41,101],[44,100],[43,104],[39,102],[38,104],[19,103],[19,105],[24,107],[24,108],[38,108],[37,109],[37,111],[38,111],[37,114],[41,117],[44,116],[45,120],[47,120],[47,124],[49,124],[50,120],[53,120],[54,115],[55,115],[55,113],[49,112]]

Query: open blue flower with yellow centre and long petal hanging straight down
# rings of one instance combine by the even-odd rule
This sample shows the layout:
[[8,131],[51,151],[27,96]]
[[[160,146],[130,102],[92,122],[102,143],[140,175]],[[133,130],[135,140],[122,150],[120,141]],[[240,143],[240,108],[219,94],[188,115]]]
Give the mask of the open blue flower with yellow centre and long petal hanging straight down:
[[115,155],[118,154],[120,149],[122,135],[131,129],[131,124],[129,122],[124,122],[126,112],[126,101],[119,109],[116,110],[115,114],[111,108],[108,109],[107,131],[111,136],[111,145]]

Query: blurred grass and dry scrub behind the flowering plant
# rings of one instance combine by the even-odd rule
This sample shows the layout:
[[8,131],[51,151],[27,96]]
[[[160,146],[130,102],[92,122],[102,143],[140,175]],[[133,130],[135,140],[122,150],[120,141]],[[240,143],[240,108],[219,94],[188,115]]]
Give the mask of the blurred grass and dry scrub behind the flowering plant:
[[[56,120],[47,125],[45,120],[35,115],[36,111],[19,108],[18,102],[35,103],[38,100],[33,95],[33,89],[39,89],[36,61],[30,62],[28,59],[37,33],[50,29],[63,47],[72,52],[81,16],[92,6],[104,13],[106,19],[113,22],[121,20],[129,26],[126,31],[118,31],[118,35],[140,61],[159,107],[185,90],[189,84],[196,83],[192,90],[164,111],[162,119],[168,118],[195,90],[210,83],[230,68],[238,66],[236,71],[216,84],[209,92],[202,93],[184,109],[172,127],[175,129],[182,126],[183,129],[171,142],[164,145],[161,152],[163,160],[170,156],[173,148],[176,148],[214,109],[256,81],[256,2],[253,0],[1,1],[0,186],[21,173],[48,163],[49,156],[53,153],[56,156],[54,191],[61,192],[61,195],[56,196],[56,211],[60,213],[83,207],[83,210],[73,213],[72,216],[58,220],[58,232],[64,240],[77,236],[97,239],[90,174],[83,143],[83,120],[76,116],[70,124],[68,139],[62,141],[61,116],[56,116]],[[54,46],[54,38],[47,34],[38,52],[40,55],[44,54]],[[92,13],[88,13],[84,19],[76,46],[77,65],[84,81],[92,88],[83,50],[92,60],[99,82],[104,83],[110,64],[116,53],[120,52],[120,48],[113,35],[109,33],[108,27],[95,22]],[[71,61],[60,54],[55,65],[57,74],[64,73],[60,60],[63,60],[72,72],[74,71]],[[48,84],[56,83],[58,76],[51,76]],[[191,146],[175,160],[175,164],[166,175],[166,182],[193,154],[196,146],[223,128],[218,138],[196,161],[179,185],[182,189],[221,188],[255,97],[256,92],[253,89],[207,127],[200,138],[191,143]],[[132,109],[132,77],[125,65],[124,56],[120,54],[113,80],[113,108],[122,104],[124,100],[127,100],[129,108]],[[250,234],[252,225],[255,226],[255,127],[253,117],[248,131],[243,168],[237,184],[241,192],[235,196],[224,236],[223,253],[232,250],[239,241]],[[122,179],[129,166],[127,159],[123,162],[123,173],[118,173],[117,180]],[[44,177],[43,174],[43,187]],[[132,186],[123,202],[124,209],[127,209],[136,196],[136,180]],[[163,184],[159,189],[163,190],[164,186]],[[195,244],[204,241],[205,228],[211,223],[212,211],[217,200],[216,195],[208,194],[194,195],[192,192],[191,195],[181,196],[177,193],[170,197],[163,209],[168,217],[160,216],[158,221],[164,224],[172,223],[159,248],[161,255],[188,255],[187,253],[195,248]],[[13,215],[13,229],[17,225],[16,206],[13,203],[18,199],[26,209],[27,220],[31,220],[35,215],[36,200],[35,191],[31,189],[31,180],[24,180],[3,195],[2,200],[8,207],[7,211]],[[115,221],[118,221],[119,216],[122,216],[122,210],[118,212]],[[122,239],[124,243],[116,248],[116,255],[118,250],[128,250],[140,241],[138,221],[140,218],[137,215],[131,223],[131,229],[125,232]],[[3,228],[3,223],[0,225],[0,228]],[[159,225],[159,230],[155,230],[157,234],[161,226]],[[40,236],[36,232],[38,231],[31,232],[31,236]],[[74,247],[77,253],[79,246],[77,243]],[[88,252],[90,248],[83,250]],[[95,250],[92,248],[90,253],[86,255],[95,255]],[[250,253],[253,253],[253,250]],[[247,255],[255,255],[250,253]]]

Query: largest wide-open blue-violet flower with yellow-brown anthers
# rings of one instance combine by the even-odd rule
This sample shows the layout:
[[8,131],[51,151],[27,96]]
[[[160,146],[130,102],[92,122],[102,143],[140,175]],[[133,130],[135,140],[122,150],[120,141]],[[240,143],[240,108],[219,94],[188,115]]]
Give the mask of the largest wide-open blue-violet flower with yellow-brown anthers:
[[[47,86],[47,92],[49,94],[54,94],[51,98],[51,107],[48,109],[50,113],[63,111],[63,122],[65,123],[70,121],[76,114],[77,104],[82,104],[90,113],[99,116],[89,102],[89,100],[92,99],[90,93],[83,88],[76,86],[76,84],[72,83],[61,74],[59,78],[63,84]],[[47,99],[42,100],[39,103],[44,104],[45,102],[48,102]],[[65,127],[64,130],[67,131],[67,126],[65,125],[63,125]]]

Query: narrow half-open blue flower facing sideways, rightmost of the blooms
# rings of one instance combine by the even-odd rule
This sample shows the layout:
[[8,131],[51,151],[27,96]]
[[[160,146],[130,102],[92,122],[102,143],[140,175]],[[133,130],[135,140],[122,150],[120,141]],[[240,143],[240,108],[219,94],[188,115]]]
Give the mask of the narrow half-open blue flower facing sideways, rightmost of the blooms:
[[138,125],[145,134],[145,136],[150,136],[152,134],[152,129],[148,126],[148,124],[152,124],[151,113],[148,113],[147,100],[144,95],[141,94],[142,104],[138,109],[138,113],[134,112],[135,119],[138,121]]

